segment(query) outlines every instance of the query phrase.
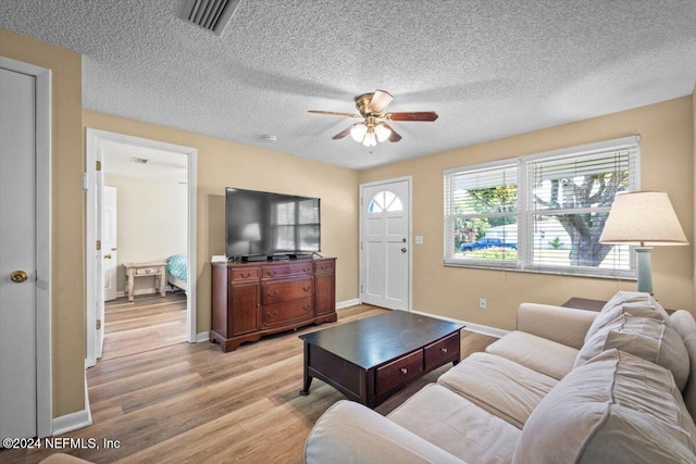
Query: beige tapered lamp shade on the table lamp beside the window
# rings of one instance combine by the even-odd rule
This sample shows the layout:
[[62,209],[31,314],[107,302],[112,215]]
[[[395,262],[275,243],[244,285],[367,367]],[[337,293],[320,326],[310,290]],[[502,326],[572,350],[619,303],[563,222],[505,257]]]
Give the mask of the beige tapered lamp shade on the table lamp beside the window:
[[667,193],[648,190],[617,193],[599,242],[638,247],[688,243]]

